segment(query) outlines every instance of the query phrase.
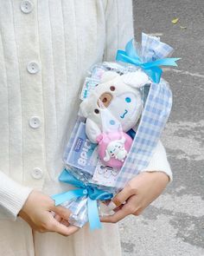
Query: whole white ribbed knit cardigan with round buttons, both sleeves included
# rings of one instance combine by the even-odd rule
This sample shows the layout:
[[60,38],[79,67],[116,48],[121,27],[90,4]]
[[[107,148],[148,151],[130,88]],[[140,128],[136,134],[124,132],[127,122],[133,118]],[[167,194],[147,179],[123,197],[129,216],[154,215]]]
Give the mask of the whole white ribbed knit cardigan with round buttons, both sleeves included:
[[[57,186],[86,70],[133,36],[131,0],[30,3],[0,0],[0,219],[46,180]],[[146,170],[171,178],[161,143]]]

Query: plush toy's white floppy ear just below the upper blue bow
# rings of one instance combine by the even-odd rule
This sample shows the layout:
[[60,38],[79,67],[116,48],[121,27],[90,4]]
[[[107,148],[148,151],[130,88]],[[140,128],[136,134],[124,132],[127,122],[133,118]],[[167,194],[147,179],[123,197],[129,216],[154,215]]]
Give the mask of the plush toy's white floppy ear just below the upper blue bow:
[[141,70],[121,75],[121,78],[124,83],[131,85],[133,88],[140,88],[145,84],[150,83],[149,76]]

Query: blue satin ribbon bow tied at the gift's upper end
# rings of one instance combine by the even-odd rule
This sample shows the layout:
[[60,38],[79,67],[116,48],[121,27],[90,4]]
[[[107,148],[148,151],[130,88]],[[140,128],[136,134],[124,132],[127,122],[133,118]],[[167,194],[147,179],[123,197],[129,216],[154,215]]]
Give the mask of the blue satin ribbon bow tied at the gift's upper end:
[[116,60],[120,62],[128,62],[136,65],[144,70],[144,72],[150,76],[153,82],[160,82],[163,70],[159,66],[174,66],[177,67],[176,61],[180,58],[163,58],[153,62],[142,62],[137,55],[137,51],[133,46],[133,39],[126,44],[125,51],[118,50]]

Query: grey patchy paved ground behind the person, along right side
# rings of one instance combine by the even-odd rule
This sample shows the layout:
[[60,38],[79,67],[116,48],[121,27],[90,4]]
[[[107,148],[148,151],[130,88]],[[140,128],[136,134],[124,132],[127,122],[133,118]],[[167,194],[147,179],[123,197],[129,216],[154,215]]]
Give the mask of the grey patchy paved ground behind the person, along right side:
[[[140,217],[121,222],[124,256],[204,255],[204,1],[138,0],[136,34],[161,36],[182,57],[166,70],[174,107],[163,143],[174,182]],[[179,17],[175,25],[171,23]],[[181,28],[187,27],[186,29]]]

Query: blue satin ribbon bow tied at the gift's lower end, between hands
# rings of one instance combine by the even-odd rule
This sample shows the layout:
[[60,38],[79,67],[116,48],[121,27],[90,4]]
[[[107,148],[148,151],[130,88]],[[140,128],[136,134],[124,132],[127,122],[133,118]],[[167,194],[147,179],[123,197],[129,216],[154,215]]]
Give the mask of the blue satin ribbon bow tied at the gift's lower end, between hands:
[[111,193],[100,190],[97,187],[92,187],[90,184],[85,185],[82,181],[76,179],[73,174],[70,174],[66,169],[64,169],[61,173],[59,180],[61,182],[65,182],[80,188],[73,189],[61,194],[54,194],[52,199],[55,201],[55,206],[59,206],[67,200],[73,200],[79,197],[87,196],[87,210],[90,228],[92,230],[101,228],[97,200],[111,200],[113,195]]

